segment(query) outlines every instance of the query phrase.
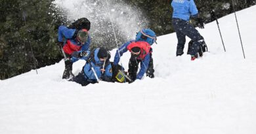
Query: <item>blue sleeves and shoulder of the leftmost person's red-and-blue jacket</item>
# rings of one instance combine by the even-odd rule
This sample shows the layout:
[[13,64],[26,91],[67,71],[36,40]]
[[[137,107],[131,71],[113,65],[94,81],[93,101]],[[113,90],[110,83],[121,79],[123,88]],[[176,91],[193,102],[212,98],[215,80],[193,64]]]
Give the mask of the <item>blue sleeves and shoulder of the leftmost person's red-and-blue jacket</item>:
[[[79,45],[77,44],[76,39],[74,39],[74,34],[75,34],[75,29],[68,29],[68,27],[64,26],[64,25],[60,25],[60,27],[58,27],[58,41],[59,42],[64,42],[64,45],[66,45],[66,41],[70,40],[70,42],[72,42],[72,44],[74,45]],[[63,40],[64,38],[64,40]],[[87,42],[85,42],[85,44],[82,44],[81,47],[81,51],[87,51],[89,50],[89,46],[91,44],[91,36],[88,36],[88,40]],[[75,62],[78,59],[76,58],[72,58],[72,61]]]

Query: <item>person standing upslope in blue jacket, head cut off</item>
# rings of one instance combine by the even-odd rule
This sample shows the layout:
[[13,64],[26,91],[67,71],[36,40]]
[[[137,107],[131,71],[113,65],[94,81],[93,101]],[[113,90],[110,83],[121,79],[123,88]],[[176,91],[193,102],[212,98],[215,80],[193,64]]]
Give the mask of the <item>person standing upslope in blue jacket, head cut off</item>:
[[190,16],[195,18],[198,27],[202,29],[204,28],[204,21],[198,16],[198,9],[196,8],[194,0],[173,0],[171,6],[173,7],[173,27],[178,39],[176,56],[184,54],[184,44],[186,42],[186,36],[188,36],[193,41],[188,54],[191,55],[191,60],[194,60],[198,58],[200,45],[205,44],[205,42],[198,30],[188,21]]

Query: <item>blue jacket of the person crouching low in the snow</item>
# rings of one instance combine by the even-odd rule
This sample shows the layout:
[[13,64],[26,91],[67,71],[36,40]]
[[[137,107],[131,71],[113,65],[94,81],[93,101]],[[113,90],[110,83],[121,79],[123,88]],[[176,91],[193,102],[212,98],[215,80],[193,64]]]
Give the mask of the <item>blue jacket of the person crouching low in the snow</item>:
[[[104,81],[111,81],[112,80],[112,66],[111,63],[109,61],[109,59],[106,60],[105,66],[104,66],[104,73],[102,73],[102,71],[100,71],[100,69],[103,69],[103,61],[100,61],[100,59],[98,58],[97,54],[98,54],[98,50],[99,48],[96,48],[94,51],[92,52],[88,52],[88,56],[83,57],[82,59],[90,59],[90,63],[86,62],[85,66],[83,66],[83,72],[85,73],[85,78],[87,80],[93,80],[96,81],[96,76],[93,73],[93,70],[91,69],[91,67],[93,67],[93,69],[95,69],[95,73],[98,76],[98,78],[104,80]],[[94,54],[91,54],[94,53]],[[93,57],[91,57],[93,56]]]

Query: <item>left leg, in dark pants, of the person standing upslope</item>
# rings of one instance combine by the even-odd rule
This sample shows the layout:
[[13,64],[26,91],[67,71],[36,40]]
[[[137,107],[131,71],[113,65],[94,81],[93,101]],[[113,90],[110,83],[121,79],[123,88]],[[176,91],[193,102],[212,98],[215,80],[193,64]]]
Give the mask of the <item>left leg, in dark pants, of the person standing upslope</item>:
[[173,18],[173,27],[175,29],[177,39],[178,39],[178,44],[177,44],[177,50],[176,50],[176,56],[181,56],[184,54],[184,45],[186,43],[186,35],[182,32],[182,26],[181,25],[182,20]]

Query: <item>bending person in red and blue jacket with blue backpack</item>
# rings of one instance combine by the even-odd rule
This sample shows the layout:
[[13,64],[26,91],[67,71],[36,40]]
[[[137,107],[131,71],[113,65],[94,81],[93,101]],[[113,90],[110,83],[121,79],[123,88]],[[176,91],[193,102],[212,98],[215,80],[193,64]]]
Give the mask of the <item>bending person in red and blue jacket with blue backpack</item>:
[[[113,74],[116,75],[116,72],[118,70],[117,65],[120,60],[119,56],[123,56],[123,53],[129,50],[129,52],[131,52],[131,58],[129,59],[128,73],[131,79],[133,81],[135,81],[136,79],[141,79],[145,73],[148,73],[148,76],[151,76],[150,78],[154,78],[154,66],[151,54],[152,48],[150,46],[154,44],[154,42],[156,42],[156,34],[154,33],[154,31],[152,31],[151,29],[140,30],[139,33],[137,33],[135,41],[128,41],[118,48],[114,58]],[[140,71],[137,75],[139,63]]]

